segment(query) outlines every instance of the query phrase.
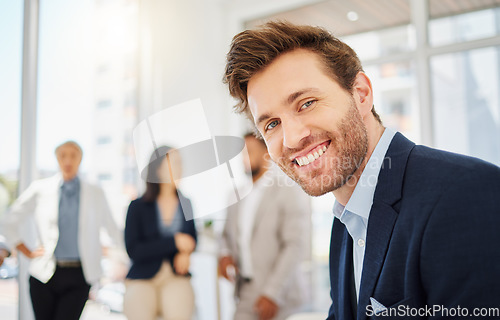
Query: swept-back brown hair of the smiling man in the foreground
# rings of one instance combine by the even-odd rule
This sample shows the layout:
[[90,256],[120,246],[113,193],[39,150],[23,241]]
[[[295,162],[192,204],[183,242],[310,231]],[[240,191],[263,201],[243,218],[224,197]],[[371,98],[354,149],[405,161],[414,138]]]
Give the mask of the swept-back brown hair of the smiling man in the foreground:
[[[352,92],[356,75],[363,68],[351,47],[320,27],[272,21],[258,29],[240,32],[231,42],[223,81],[229,85],[231,96],[239,100],[236,112],[245,112],[252,119],[248,110],[248,81],[281,54],[299,48],[318,54],[327,74]],[[381,122],[375,108],[372,114]]]

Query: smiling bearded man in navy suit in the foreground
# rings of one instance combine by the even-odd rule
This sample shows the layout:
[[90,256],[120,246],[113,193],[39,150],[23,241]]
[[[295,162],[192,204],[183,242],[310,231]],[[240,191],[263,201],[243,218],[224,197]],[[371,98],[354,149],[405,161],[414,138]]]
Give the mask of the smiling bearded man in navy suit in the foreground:
[[356,53],[321,28],[236,35],[224,81],[271,159],[336,198],[329,319],[500,307],[498,167],[384,128]]

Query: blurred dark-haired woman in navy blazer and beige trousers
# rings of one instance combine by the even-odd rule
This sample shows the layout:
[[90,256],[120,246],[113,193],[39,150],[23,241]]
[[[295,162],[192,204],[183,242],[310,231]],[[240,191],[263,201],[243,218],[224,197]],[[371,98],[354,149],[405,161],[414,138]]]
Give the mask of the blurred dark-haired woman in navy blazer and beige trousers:
[[[125,245],[132,266],[125,281],[129,320],[189,320],[194,291],[189,266],[197,233],[191,203],[177,189],[179,152],[160,147],[151,155],[146,191],[130,203]],[[182,204],[182,205],[181,205]]]

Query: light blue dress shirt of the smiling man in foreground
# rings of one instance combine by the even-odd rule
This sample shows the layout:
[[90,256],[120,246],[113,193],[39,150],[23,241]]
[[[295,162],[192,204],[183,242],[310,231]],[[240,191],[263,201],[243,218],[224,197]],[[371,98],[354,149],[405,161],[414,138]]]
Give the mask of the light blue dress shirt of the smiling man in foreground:
[[333,205],[334,216],[346,226],[347,231],[353,239],[354,281],[358,299],[365,257],[368,218],[370,217],[378,175],[382,168],[385,154],[395,134],[396,132],[388,128],[384,130],[347,205],[344,207],[338,201],[335,201]]

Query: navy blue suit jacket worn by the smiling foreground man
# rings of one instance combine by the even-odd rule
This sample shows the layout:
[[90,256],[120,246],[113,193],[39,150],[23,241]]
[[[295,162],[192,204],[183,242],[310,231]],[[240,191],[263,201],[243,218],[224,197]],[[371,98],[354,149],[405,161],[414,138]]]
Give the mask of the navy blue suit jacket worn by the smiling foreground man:
[[[335,219],[329,320],[405,319],[407,308],[434,305],[473,319],[474,308],[500,307],[500,168],[397,133],[370,211],[357,306],[351,265],[351,237]],[[372,316],[370,297],[390,310]],[[411,319],[455,318],[419,312]]]

